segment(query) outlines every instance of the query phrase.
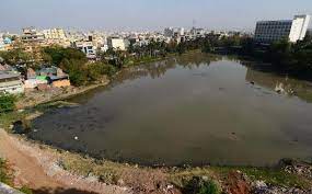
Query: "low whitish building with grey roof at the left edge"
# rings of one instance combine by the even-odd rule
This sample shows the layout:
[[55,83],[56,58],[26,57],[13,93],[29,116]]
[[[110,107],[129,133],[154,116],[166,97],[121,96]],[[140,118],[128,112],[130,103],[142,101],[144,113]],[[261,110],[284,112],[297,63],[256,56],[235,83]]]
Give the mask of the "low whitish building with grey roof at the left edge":
[[24,87],[21,75],[11,71],[0,71],[0,93],[23,93]]

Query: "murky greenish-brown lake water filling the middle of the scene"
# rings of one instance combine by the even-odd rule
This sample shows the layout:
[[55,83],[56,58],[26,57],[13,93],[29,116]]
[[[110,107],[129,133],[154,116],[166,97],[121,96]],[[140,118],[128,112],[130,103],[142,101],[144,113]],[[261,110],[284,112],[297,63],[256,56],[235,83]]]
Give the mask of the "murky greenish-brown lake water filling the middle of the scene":
[[30,137],[140,164],[311,160],[312,83],[254,64],[194,54],[126,69],[108,87],[69,100],[80,106],[35,119]]

